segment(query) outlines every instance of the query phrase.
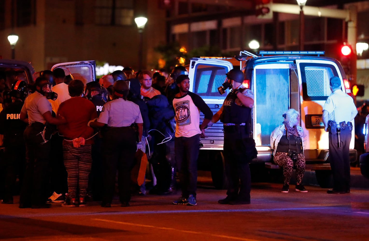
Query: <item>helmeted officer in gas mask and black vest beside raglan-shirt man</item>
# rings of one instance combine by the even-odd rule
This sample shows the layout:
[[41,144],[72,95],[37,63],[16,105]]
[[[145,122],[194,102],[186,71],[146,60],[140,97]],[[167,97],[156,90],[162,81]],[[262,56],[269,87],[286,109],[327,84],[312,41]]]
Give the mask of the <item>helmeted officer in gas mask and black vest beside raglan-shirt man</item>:
[[[225,97],[222,107],[213,116],[212,122],[219,119],[224,128],[224,163],[229,181],[227,197],[218,201],[220,204],[249,204],[251,176],[249,162],[257,157],[255,141],[250,136],[249,120],[254,105],[254,94],[243,88],[244,73],[232,69],[227,73],[224,87],[232,91]],[[238,191],[238,183],[241,188]]]

